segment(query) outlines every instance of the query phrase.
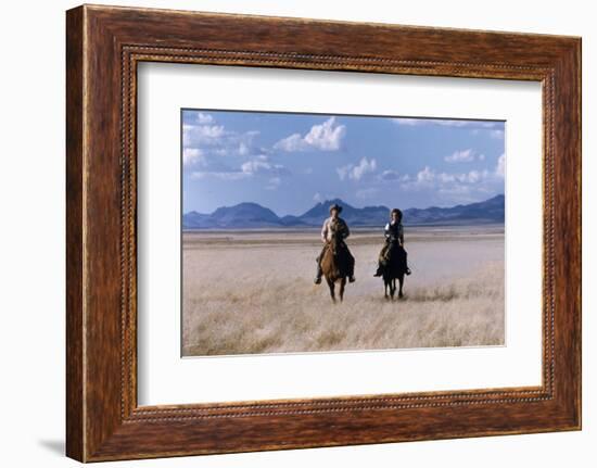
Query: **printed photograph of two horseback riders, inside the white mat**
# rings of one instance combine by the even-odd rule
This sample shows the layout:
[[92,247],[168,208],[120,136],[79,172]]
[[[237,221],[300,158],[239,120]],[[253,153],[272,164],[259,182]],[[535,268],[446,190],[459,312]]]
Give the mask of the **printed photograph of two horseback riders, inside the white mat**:
[[181,110],[182,356],[505,343],[505,122]]

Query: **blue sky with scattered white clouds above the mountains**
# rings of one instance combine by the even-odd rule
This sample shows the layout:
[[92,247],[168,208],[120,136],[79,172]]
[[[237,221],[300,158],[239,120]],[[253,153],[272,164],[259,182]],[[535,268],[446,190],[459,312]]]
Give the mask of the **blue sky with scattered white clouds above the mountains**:
[[496,121],[183,110],[182,210],[482,201],[504,193],[504,134]]

